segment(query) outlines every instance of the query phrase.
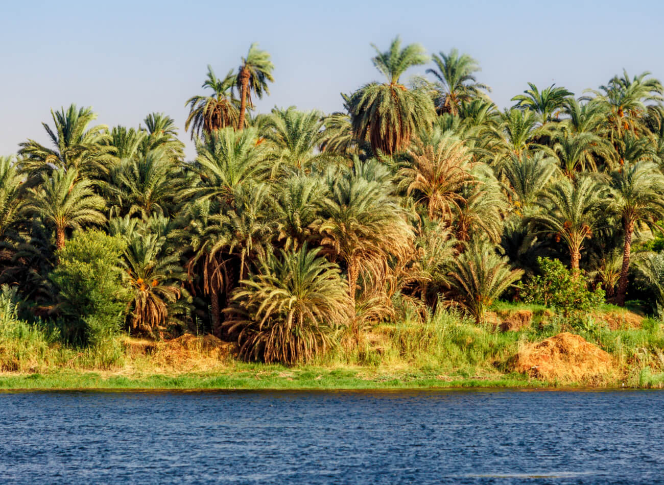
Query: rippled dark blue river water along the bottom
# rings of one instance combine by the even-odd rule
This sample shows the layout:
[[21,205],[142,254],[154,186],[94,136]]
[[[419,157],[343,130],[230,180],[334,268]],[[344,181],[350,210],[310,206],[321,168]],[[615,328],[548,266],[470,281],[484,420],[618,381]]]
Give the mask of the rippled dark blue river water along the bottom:
[[0,482],[664,483],[664,391],[0,393]]

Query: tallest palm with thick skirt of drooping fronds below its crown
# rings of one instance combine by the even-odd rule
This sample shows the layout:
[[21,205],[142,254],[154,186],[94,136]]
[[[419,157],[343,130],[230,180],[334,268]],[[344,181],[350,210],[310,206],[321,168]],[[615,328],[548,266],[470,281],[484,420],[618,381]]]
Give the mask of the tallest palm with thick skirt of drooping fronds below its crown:
[[353,134],[358,140],[369,139],[374,153],[386,155],[404,149],[410,137],[430,125],[434,105],[424,90],[408,90],[400,76],[410,67],[425,64],[429,58],[420,44],[401,48],[401,40],[392,40],[386,52],[372,44],[377,55],[373,64],[386,83],[371,82],[357,90],[349,100]]

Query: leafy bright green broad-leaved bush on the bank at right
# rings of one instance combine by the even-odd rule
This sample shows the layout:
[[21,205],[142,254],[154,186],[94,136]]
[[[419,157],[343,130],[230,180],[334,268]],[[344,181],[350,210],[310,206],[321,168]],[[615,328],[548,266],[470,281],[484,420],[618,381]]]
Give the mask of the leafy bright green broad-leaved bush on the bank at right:
[[561,310],[565,316],[575,311],[596,309],[604,303],[604,290],[588,289],[583,271],[574,273],[558,259],[537,258],[540,275],[531,277],[521,290],[526,303]]

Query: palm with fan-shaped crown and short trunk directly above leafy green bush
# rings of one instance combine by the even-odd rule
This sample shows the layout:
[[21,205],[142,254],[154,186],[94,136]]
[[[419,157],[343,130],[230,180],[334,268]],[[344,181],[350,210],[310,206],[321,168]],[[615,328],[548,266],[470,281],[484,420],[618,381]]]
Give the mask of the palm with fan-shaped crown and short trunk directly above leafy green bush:
[[569,251],[572,270],[578,273],[581,250],[586,238],[602,225],[609,188],[590,176],[572,181],[562,178],[549,186],[537,201],[540,212],[531,222],[544,232],[562,239]]

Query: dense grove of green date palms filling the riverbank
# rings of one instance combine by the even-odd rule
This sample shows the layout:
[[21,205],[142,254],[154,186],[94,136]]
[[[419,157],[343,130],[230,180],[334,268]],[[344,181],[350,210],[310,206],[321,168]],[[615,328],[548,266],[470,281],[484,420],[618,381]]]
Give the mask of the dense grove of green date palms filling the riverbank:
[[383,78],[330,115],[254,114],[274,81],[255,44],[224,78],[208,68],[187,101],[193,161],[161,113],[109,129],[88,107],[52,111],[50,145],[0,159],[3,292],[71,344],[210,332],[286,364],[406,313],[482,322],[550,259],[658,311],[659,80],[529,84],[500,111],[467,54],[375,48]]

